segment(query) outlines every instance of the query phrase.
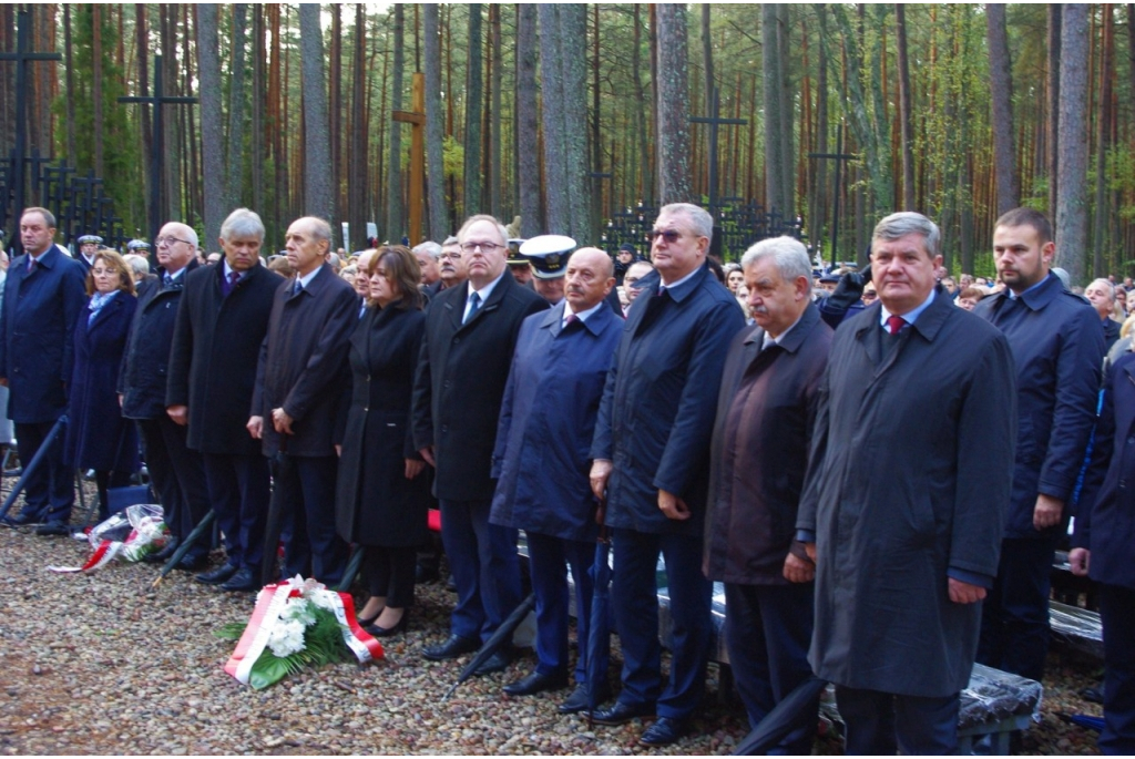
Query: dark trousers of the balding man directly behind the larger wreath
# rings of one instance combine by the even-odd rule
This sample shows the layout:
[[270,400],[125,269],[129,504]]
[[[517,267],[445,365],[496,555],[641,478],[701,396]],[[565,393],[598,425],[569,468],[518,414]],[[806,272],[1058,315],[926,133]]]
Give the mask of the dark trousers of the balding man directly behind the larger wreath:
[[314,577],[328,588],[339,584],[347,563],[347,545],[335,531],[336,456],[292,456],[284,467],[284,512],[291,516],[285,541],[287,576]]

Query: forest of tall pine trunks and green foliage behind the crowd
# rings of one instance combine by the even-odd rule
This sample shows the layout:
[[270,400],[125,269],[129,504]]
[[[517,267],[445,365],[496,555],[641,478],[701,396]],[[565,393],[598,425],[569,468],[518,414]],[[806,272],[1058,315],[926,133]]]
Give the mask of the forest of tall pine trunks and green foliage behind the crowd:
[[[716,93],[746,120],[718,128],[716,194],[799,214],[825,258],[838,230],[861,262],[875,221],[909,209],[942,227],[951,271],[990,275],[994,219],[1026,204],[1077,282],[1135,273],[1135,5],[28,3],[0,6],[0,52],[20,9],[33,49],[62,54],[26,69],[27,147],[102,177],[142,236],[152,110],[118,98],[150,94],[157,53],[166,94],[200,99],[165,107],[159,217],[208,248],[237,205],[268,248],[308,213],[350,222],[350,248],[367,221],[442,239],[473,212],[600,243],[640,204],[708,202],[713,127],[690,117]],[[393,118],[415,71],[420,230],[414,127]],[[839,172],[809,155],[836,151]]]

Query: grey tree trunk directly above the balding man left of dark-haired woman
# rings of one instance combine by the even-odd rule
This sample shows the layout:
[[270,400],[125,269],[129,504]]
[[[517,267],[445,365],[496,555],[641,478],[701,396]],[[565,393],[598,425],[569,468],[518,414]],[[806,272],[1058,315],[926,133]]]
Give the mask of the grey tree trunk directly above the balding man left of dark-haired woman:
[[[303,68],[303,213],[333,221],[330,145],[327,141],[327,83],[323,76],[323,33],[319,5],[300,5],[300,48]],[[331,247],[338,235],[331,225]]]

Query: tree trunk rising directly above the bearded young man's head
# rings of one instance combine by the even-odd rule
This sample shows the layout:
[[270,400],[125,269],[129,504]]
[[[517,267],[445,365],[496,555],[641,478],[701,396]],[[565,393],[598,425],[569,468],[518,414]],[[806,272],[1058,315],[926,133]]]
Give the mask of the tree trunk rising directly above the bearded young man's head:
[[989,32],[990,85],[993,110],[993,158],[997,174],[997,212],[1020,205],[1020,183],[1017,178],[1017,152],[1014,145],[1012,64],[1009,60],[1009,35],[1004,25],[1004,6],[985,6]]

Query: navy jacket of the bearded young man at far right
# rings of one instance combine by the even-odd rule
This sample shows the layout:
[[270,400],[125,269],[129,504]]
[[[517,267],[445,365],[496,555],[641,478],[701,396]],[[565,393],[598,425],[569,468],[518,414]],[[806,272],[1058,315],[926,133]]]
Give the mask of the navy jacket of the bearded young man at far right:
[[1018,302],[1006,290],[974,313],[1004,332],[1017,368],[1017,461],[1004,537],[1056,534],[1060,525],[1033,526],[1033,509],[1042,492],[1068,501],[1084,463],[1104,354],[1100,317],[1051,273]]

